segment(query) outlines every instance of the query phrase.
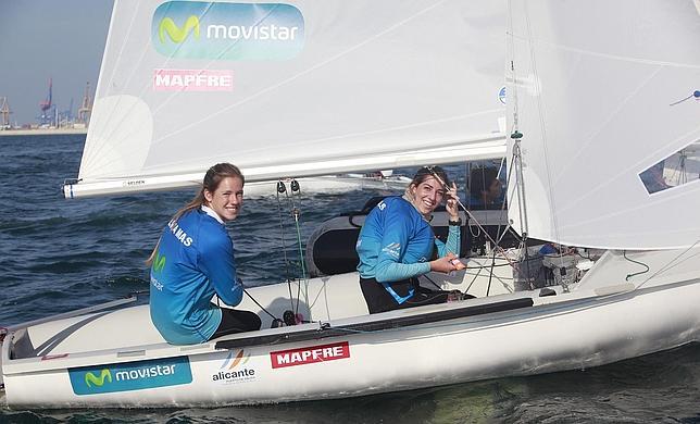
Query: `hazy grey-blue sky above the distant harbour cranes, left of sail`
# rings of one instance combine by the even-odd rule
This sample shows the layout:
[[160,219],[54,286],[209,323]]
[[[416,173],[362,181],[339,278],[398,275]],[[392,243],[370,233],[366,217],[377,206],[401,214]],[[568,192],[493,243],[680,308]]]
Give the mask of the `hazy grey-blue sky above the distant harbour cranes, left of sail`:
[[37,122],[53,79],[53,102],[73,114],[100,73],[112,0],[0,0],[0,97],[14,125]]

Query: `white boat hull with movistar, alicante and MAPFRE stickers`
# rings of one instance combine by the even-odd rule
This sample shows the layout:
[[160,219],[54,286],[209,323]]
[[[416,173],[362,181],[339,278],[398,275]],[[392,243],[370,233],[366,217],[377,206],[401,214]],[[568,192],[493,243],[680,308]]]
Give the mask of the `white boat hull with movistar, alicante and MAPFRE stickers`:
[[[698,339],[700,278],[691,259],[698,253],[637,253],[632,257],[651,270],[625,282],[640,266],[608,252],[571,292],[555,287],[558,295],[548,297],[539,297],[539,290],[509,292],[512,279],[499,271],[502,275],[491,280],[486,298],[372,316],[366,315],[357,275],[316,278],[302,285],[299,311],[325,323],[324,329],[320,323],[302,324],[188,347],[163,342],[147,305],[52,321],[5,338],[7,403],[249,404],[601,365]],[[485,296],[488,276],[467,273],[439,283],[464,289],[476,279],[470,291]],[[286,284],[250,292],[275,314],[290,308]],[[249,299],[242,308],[255,310]],[[268,327],[270,319],[261,316],[263,328]],[[367,327],[370,323],[375,327]],[[11,360],[11,352],[22,358]],[[82,366],[92,367],[87,371],[93,375],[86,377],[86,370],[80,374],[76,369]]]

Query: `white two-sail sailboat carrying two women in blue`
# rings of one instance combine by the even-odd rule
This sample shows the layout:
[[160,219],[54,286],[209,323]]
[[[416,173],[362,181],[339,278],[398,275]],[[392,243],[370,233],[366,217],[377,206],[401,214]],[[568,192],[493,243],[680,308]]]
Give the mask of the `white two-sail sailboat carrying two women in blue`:
[[[2,344],[5,402],[341,398],[579,370],[698,340],[700,184],[664,177],[652,190],[642,177],[660,161],[664,172],[697,162],[697,3],[497,3],[115,2],[70,196],[183,187],[226,160],[274,180],[503,157],[503,110],[484,105],[499,101],[490,65],[502,75],[505,62],[508,213],[523,246],[496,242],[463,258],[466,271],[428,275],[422,284],[476,296],[445,304],[368,315],[355,273],[251,288],[271,315],[291,310],[299,323],[268,328],[247,298],[240,308],[264,329],[202,345],[164,342],[148,307],[128,299],[18,325]],[[220,18],[237,41],[198,49],[193,34],[202,40]],[[252,36],[273,25],[297,38]],[[233,92],[161,92],[142,75],[192,68],[232,75]]]

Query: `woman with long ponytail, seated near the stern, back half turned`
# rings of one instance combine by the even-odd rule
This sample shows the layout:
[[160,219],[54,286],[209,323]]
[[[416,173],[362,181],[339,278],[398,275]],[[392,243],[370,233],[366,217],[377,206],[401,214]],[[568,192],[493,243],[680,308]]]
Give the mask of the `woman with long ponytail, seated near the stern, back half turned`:
[[197,197],[175,213],[149,258],[151,320],[171,344],[260,329],[257,314],[212,303],[214,295],[230,307],[242,299],[225,223],[240,212],[243,183],[235,165],[210,167]]

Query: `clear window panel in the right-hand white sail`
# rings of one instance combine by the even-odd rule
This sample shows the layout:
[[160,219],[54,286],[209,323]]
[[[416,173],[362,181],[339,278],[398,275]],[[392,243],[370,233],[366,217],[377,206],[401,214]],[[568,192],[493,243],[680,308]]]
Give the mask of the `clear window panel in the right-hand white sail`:
[[650,195],[700,179],[700,140],[654,163],[639,179]]

